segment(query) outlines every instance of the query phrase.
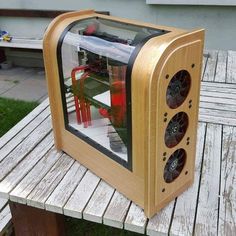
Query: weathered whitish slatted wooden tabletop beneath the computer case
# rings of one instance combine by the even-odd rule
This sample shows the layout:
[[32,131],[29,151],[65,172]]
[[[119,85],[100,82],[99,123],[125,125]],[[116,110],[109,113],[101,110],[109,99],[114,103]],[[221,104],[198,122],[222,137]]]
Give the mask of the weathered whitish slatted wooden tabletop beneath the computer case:
[[0,196],[147,235],[235,235],[236,52],[206,53],[195,181],[153,218],[55,149],[48,99],[0,139]]

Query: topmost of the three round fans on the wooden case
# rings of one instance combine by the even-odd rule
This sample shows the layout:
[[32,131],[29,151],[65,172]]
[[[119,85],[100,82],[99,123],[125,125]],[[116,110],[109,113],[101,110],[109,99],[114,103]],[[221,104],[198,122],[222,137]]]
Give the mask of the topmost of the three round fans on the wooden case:
[[167,105],[174,109],[180,106],[188,96],[191,85],[191,76],[186,70],[180,70],[171,79],[167,91]]

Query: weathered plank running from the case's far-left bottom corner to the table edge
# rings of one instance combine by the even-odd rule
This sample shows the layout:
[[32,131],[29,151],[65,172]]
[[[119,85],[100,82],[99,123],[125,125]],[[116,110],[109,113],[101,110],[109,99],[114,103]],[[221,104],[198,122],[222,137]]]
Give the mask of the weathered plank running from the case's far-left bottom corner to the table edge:
[[73,163],[74,160],[71,157],[63,154],[62,157],[52,167],[52,169],[29,194],[27,197],[27,205],[44,208],[46,200],[51,195],[56,186],[60,183]]

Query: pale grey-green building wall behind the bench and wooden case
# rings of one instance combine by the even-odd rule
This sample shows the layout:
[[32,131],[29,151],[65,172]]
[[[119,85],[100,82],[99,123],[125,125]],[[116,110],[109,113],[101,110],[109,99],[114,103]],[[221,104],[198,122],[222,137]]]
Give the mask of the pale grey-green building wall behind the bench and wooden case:
[[[0,8],[110,11],[114,16],[156,24],[205,28],[205,48],[236,50],[235,6],[150,5],[145,0],[8,0],[1,1]],[[18,37],[42,37],[50,20],[0,17],[0,28]]]

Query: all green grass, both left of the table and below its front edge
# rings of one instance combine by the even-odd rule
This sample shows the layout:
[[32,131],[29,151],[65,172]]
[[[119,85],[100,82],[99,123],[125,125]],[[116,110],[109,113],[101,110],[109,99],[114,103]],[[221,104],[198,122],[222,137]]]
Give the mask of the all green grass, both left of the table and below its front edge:
[[[11,129],[38,105],[37,102],[24,102],[0,97],[0,137]],[[65,217],[67,236],[135,236],[135,234],[102,224]]]

